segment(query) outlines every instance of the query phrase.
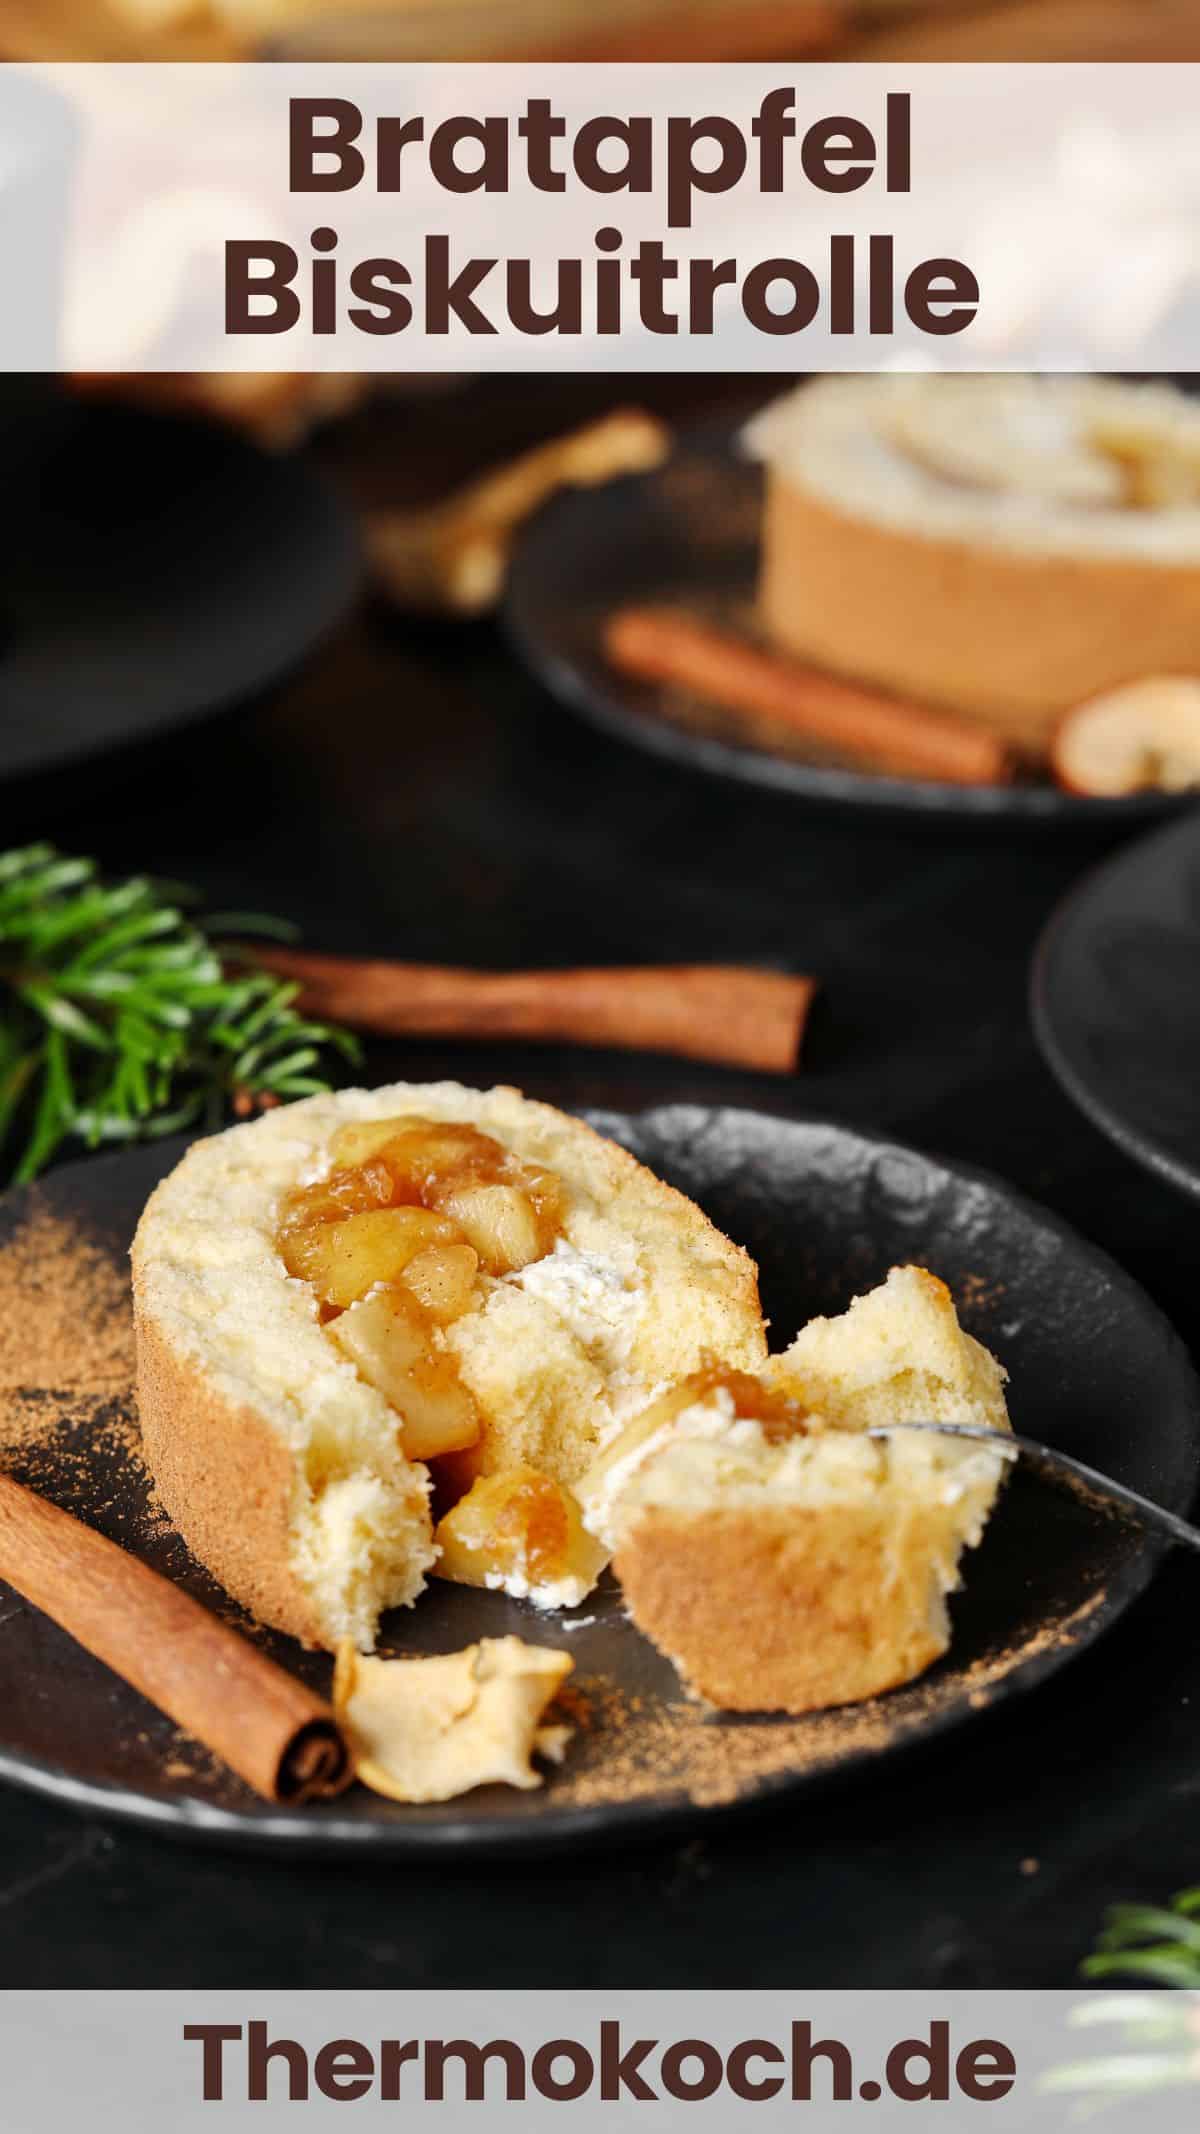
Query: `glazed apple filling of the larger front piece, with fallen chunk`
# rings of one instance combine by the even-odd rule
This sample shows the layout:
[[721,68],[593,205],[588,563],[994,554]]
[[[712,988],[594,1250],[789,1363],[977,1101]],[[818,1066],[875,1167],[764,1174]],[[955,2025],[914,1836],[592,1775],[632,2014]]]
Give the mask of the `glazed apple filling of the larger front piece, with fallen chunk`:
[[[562,1236],[562,1184],[476,1127],[384,1118],[342,1127],[331,1172],[286,1195],[278,1246],[310,1283],[329,1340],[395,1408],[410,1460],[480,1438],[474,1396],[442,1329],[480,1276],[517,1274]],[[440,1470],[442,1494],[455,1468]],[[438,1528],[438,1573],[555,1598],[596,1581],[604,1551],[568,1490],[534,1468],[483,1477]]]

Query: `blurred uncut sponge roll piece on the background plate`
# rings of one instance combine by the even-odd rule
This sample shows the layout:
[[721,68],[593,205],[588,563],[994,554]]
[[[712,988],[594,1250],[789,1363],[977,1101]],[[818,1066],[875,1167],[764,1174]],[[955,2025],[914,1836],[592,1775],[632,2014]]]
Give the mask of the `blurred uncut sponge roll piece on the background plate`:
[[1031,749],[1200,672],[1200,410],[1087,378],[824,378],[747,431],[758,604],[796,657]]

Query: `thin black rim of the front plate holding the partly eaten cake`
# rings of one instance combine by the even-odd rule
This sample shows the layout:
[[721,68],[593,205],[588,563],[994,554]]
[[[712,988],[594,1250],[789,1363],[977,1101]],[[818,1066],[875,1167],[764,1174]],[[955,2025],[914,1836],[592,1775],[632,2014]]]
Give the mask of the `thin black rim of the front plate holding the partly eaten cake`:
[[[613,1110],[587,1108],[579,1116],[594,1122],[600,1131],[611,1131],[611,1122],[619,1118],[636,1133],[638,1129],[653,1129],[653,1120],[660,1116],[679,1112],[696,1112],[707,1118],[722,1114],[741,1118],[749,1116],[754,1120],[767,1120],[775,1127],[801,1125],[816,1131],[828,1131],[831,1135],[843,1140],[856,1140],[878,1154],[897,1154],[901,1159],[916,1159],[922,1165],[935,1165],[952,1180],[999,1195],[1016,1214],[1031,1219],[1040,1229],[1048,1231],[1072,1253],[1083,1255],[1083,1259],[1095,1268],[1112,1289],[1121,1291],[1138,1308],[1138,1312],[1144,1315],[1147,1323],[1155,1323],[1159,1327],[1166,1368],[1172,1372],[1179,1387],[1179,1411],[1181,1415],[1185,1413],[1189,1421],[1189,1438],[1185,1447],[1187,1472],[1166,1509],[1179,1513],[1187,1511],[1200,1481],[1200,1376],[1191,1364],[1185,1342],[1166,1312],[1102,1246],[1091,1244],[1091,1240],[1083,1238],[1074,1225],[1063,1221],[1051,1208],[1036,1201],[1031,1195],[1021,1193],[1016,1187],[1010,1187],[1004,1178],[982,1165],[961,1163],[952,1157],[942,1157],[935,1150],[916,1148],[912,1142],[871,1133],[869,1129],[841,1120],[828,1112],[781,1114],[769,1112],[760,1105],[656,1103],[638,1112],[619,1114]],[[179,1148],[184,1148],[188,1140],[190,1137],[179,1137]],[[83,1159],[79,1165],[64,1165],[64,1169],[81,1169],[83,1165],[92,1169],[96,1163],[117,1165],[126,1154],[128,1150],[115,1150],[111,1154]],[[6,1201],[9,1195],[2,1195],[2,1199]],[[391,1820],[361,1822],[340,1818],[335,1807],[305,1812],[252,1810],[237,1814],[226,1807],[211,1807],[209,1803],[190,1797],[156,1799],[154,1795],[137,1793],[135,1788],[122,1784],[75,1778],[43,1758],[23,1756],[13,1750],[4,1750],[2,1746],[0,1784],[11,1784],[23,1793],[41,1795],[83,1814],[102,1814],[122,1825],[152,1829],[158,1835],[179,1842],[216,1844],[222,1848],[265,1852],[271,1857],[307,1854],[312,1859],[320,1859],[335,1854],[340,1859],[361,1859],[372,1854],[376,1859],[421,1859],[427,1854],[472,1854],[500,1859],[512,1852],[523,1857],[553,1854],[581,1842],[632,1842],[656,1835],[664,1829],[692,1829],[698,1822],[707,1822],[713,1814],[726,1818],[762,1812],[788,1793],[820,1788],[833,1778],[856,1780],[871,1765],[880,1763],[880,1758],[914,1754],[957,1726],[986,1718],[995,1705],[1012,1694],[1038,1688],[1061,1667],[1070,1665],[1070,1660],[1078,1654],[1095,1645],[1095,1641],[1104,1637],[1104,1633],[1110,1630],[1112,1624],[1147,1590],[1162,1562],[1164,1547],[1166,1545],[1159,1539],[1151,1534],[1142,1536],[1138,1554],[1132,1556],[1130,1562],[1110,1579],[1102,1600],[1091,1609],[1085,1624],[1080,1624],[1078,1635],[1070,1641],[1057,1639],[1044,1652],[1019,1660],[1004,1677],[999,1677],[999,1682],[991,1686],[986,1703],[974,1707],[961,1701],[933,1716],[914,1714],[907,1722],[901,1722],[899,1733],[893,1735],[886,1746],[848,1750],[841,1756],[831,1758],[828,1765],[816,1769],[809,1767],[803,1771],[773,1773],[732,1801],[696,1803],[690,1795],[679,1793],[664,1799],[623,1803],[609,1801],[591,1807],[559,1810],[553,1818],[544,1818],[544,1822],[530,1820],[504,1825],[487,1825],[470,1818],[459,1820],[453,1816],[440,1818],[438,1822],[414,1825]],[[886,1699],[882,1699],[882,1703],[886,1703]]]

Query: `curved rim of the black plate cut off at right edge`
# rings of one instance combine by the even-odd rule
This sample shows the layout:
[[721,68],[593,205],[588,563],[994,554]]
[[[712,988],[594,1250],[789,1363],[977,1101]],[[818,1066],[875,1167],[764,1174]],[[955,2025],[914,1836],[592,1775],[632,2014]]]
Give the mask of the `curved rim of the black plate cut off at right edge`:
[[1162,851],[1162,847],[1174,841],[1185,845],[1189,837],[1196,839],[1198,830],[1200,807],[1194,802],[1179,822],[1170,822],[1153,834],[1136,839],[1132,845],[1115,851],[1100,866],[1089,869],[1083,881],[1076,881],[1051,913],[1033,950],[1029,969],[1029,1016],[1033,1022],[1033,1037],[1038,1039],[1042,1058],[1059,1086],[1072,1103],[1078,1105],[1085,1118],[1089,1118],[1091,1125],[1121,1150],[1121,1154],[1130,1157],[1132,1163],[1140,1163],[1142,1169],[1153,1172],[1155,1178],[1164,1178],[1179,1193],[1187,1193],[1194,1199],[1200,1199],[1200,1163],[1196,1163],[1196,1167],[1185,1163],[1183,1157],[1174,1154],[1174,1150],[1164,1148],[1153,1133],[1130,1125],[1121,1110],[1115,1110],[1102,1095],[1095,1093],[1087,1073],[1072,1056],[1070,1039],[1061,1033],[1053,997],[1055,962],[1061,954],[1065,954],[1080,913],[1087,913],[1091,896],[1100,888],[1106,888],[1115,877],[1119,879],[1127,866],[1138,866],[1149,851]]

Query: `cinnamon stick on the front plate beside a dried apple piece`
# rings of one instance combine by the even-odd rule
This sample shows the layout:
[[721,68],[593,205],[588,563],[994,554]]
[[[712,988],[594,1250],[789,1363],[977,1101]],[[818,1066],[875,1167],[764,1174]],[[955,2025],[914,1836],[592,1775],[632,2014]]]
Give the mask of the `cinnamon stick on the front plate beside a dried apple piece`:
[[199,1600],[0,1475],[0,1579],[62,1624],[267,1801],[350,1784],[333,1711]]

